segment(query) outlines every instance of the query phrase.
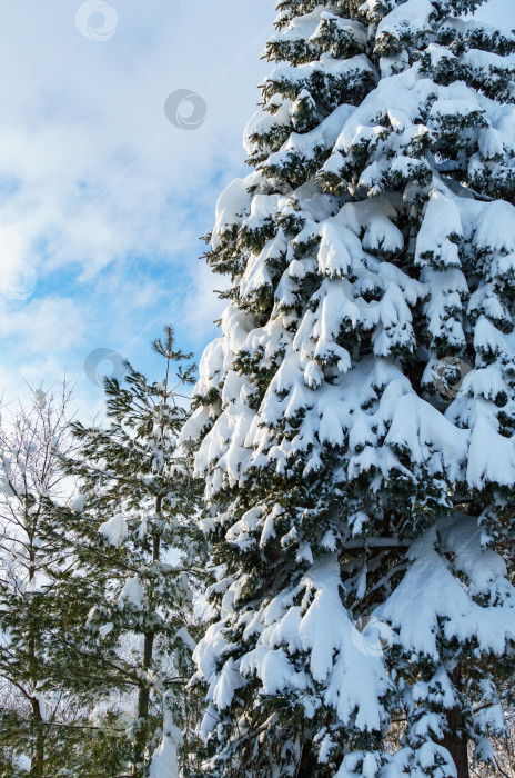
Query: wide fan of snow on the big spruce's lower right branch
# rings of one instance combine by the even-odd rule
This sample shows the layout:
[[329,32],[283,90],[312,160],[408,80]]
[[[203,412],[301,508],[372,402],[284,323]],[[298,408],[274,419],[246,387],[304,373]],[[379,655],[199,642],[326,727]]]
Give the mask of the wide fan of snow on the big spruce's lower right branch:
[[[453,565],[467,576],[468,591],[436,550],[438,535],[444,538],[443,550],[456,555]],[[477,639],[478,655],[501,655],[515,638],[515,589],[505,578],[503,561],[481,547],[477,520],[466,516],[452,522],[442,520],[413,543],[410,559],[404,579],[375,611],[398,630],[404,650],[437,660],[440,622],[448,640],[456,638],[464,644]],[[502,604],[478,605],[472,597],[479,592],[491,595],[493,602],[502,595]]]

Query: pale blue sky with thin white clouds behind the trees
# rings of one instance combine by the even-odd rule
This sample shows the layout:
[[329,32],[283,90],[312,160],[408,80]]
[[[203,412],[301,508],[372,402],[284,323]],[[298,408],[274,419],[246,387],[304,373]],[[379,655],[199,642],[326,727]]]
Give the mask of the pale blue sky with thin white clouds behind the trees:
[[[220,301],[199,256],[269,66],[273,0],[23,0],[0,28],[0,392],[112,350],[153,372],[172,322],[199,357]],[[479,14],[515,28],[513,0]],[[199,97],[194,103],[188,92]],[[168,113],[164,106],[169,96]],[[182,103],[176,108],[178,101]],[[175,111],[175,113],[173,113]],[[193,116],[190,119],[190,113]],[[188,127],[188,123],[194,127]],[[181,126],[182,124],[182,126]],[[103,363],[109,371],[110,363]]]

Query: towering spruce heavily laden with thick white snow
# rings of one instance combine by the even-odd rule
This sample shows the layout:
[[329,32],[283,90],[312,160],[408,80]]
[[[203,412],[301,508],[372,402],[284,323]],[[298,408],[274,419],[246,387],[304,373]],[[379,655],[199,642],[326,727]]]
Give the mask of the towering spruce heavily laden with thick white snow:
[[462,778],[503,732],[515,37],[479,4],[279,0],[184,431],[221,570],[210,775]]

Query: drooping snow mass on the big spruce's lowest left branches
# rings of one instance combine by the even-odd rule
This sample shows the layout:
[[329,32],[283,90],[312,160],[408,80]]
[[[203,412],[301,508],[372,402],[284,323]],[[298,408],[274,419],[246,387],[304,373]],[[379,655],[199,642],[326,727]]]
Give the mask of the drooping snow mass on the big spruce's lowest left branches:
[[[310,656],[311,676],[325,685],[325,702],[337,710],[342,721],[355,717],[362,730],[377,729],[382,707],[377,689],[384,692],[387,678],[381,658],[361,650],[355,627],[349,619],[340,595],[340,566],[335,555],[313,565],[295,590],[275,597],[256,618],[245,635],[259,634],[251,651],[236,662],[229,659],[214,674],[212,657],[223,641],[221,625],[210,627],[195,649],[195,660],[210,679],[210,699],[216,709],[226,709],[245,677],[259,676],[263,694],[275,694],[287,687],[310,689],[309,677],[299,672],[292,655],[299,649]],[[296,592],[304,592],[304,605],[293,606]],[[223,645],[223,642],[222,642]]]

